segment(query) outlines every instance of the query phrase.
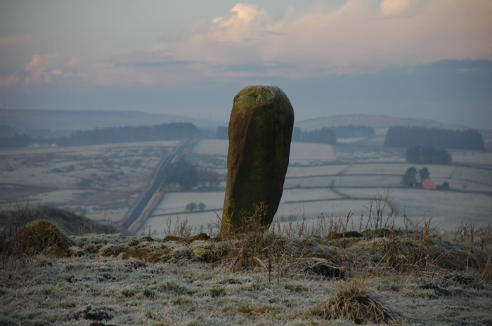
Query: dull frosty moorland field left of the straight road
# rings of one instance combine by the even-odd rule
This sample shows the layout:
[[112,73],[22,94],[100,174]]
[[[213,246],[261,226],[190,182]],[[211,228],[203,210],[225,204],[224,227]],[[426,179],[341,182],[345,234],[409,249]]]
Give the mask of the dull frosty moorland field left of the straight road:
[[0,205],[49,203],[119,222],[178,142],[0,151]]

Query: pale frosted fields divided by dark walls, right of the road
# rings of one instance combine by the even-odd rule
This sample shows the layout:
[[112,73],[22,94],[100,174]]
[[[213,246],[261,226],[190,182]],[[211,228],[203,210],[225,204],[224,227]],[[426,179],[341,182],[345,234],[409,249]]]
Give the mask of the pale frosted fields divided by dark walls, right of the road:
[[[453,165],[405,163],[402,149],[386,149],[380,144],[347,141],[335,146],[294,142],[277,218],[281,222],[369,215],[368,206],[376,196],[389,191],[396,220],[403,214],[414,222],[423,217],[443,231],[454,231],[462,223],[485,227],[492,223],[492,161],[488,152],[451,151]],[[190,159],[220,175],[226,175],[227,140],[202,140]],[[477,159],[477,161],[474,161]],[[467,165],[463,165],[467,163]],[[411,189],[403,184],[410,166],[427,167],[436,184],[448,182],[450,191]],[[225,183],[214,191],[167,193],[138,233],[159,235],[169,219],[179,216],[190,225],[205,228],[216,222],[224,202]],[[203,202],[204,211],[190,212],[186,205]]]

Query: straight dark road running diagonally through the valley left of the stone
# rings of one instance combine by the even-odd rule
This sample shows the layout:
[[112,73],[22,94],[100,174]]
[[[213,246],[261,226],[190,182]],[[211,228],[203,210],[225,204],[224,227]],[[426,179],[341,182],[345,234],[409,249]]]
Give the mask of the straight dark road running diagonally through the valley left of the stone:
[[155,170],[155,175],[152,184],[150,184],[150,187],[148,188],[147,191],[141,196],[141,198],[138,200],[134,208],[131,209],[131,213],[127,216],[126,219],[120,224],[123,226],[125,229],[129,229],[131,224],[134,224],[138,217],[141,216],[143,210],[145,207],[148,205],[148,202],[150,201],[150,198],[154,195],[155,191],[159,189],[160,185],[162,184],[162,181],[164,179],[164,176],[166,175],[166,170],[169,168],[169,164],[173,161],[173,159],[182,154],[183,151],[187,148],[192,146],[192,144],[195,144],[191,140],[183,140],[181,144],[174,149],[174,151],[171,152],[162,162],[159,164],[157,169]]

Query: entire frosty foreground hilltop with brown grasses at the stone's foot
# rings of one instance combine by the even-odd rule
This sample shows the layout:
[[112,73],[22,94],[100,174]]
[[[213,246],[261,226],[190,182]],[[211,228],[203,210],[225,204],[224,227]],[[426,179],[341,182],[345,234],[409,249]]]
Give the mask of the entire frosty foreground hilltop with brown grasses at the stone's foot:
[[164,240],[46,242],[8,256],[24,267],[0,273],[0,325],[491,325],[491,229],[395,229],[380,208],[362,232],[348,215],[267,232],[252,219],[235,239],[183,223]]

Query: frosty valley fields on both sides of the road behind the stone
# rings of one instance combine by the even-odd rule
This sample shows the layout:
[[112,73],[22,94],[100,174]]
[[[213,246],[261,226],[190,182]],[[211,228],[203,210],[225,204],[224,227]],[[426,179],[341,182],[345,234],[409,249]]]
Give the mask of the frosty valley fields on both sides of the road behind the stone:
[[[377,138],[377,137],[376,137]],[[153,179],[158,163],[178,142],[144,142],[90,147],[13,149],[0,152],[0,205],[49,203],[97,220],[121,221]],[[227,140],[202,140],[187,161],[225,178]],[[487,151],[451,151],[452,165],[413,165],[402,149],[386,149],[368,140],[334,146],[292,143],[279,221],[327,216],[368,215],[368,203],[389,191],[401,219],[431,215],[452,231],[461,223],[492,222],[492,161]],[[427,167],[436,184],[451,191],[410,189],[402,176],[410,167]],[[205,228],[216,222],[224,203],[225,182],[214,189],[164,193],[137,234],[162,236],[167,219]],[[186,209],[204,203],[204,210]]]

